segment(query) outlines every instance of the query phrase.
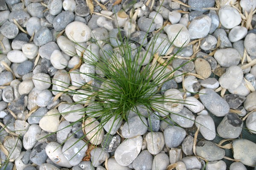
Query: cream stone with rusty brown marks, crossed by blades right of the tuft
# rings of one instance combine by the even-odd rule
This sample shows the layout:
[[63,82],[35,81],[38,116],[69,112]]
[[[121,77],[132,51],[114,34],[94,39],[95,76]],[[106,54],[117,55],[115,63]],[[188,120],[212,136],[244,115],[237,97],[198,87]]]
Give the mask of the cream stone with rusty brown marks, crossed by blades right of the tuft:
[[171,113],[179,113],[182,109],[184,104],[180,102],[183,100],[183,96],[177,89],[169,89],[164,93],[164,103],[163,106],[166,108],[167,111]]

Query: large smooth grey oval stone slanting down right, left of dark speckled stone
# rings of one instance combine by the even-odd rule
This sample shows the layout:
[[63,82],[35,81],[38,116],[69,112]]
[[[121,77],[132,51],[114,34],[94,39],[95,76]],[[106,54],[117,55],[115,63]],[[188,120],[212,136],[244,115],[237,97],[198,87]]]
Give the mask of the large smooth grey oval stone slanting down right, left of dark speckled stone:
[[227,101],[212,89],[204,88],[200,90],[199,97],[204,107],[215,116],[225,116],[230,111]]

